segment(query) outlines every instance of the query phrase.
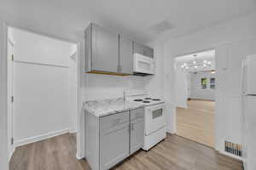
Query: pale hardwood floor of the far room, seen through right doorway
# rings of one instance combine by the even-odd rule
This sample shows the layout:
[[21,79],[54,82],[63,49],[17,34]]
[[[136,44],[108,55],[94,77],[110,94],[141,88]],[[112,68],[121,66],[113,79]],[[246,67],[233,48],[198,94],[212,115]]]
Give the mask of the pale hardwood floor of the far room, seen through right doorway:
[[215,102],[188,100],[188,108],[177,108],[177,135],[214,147]]

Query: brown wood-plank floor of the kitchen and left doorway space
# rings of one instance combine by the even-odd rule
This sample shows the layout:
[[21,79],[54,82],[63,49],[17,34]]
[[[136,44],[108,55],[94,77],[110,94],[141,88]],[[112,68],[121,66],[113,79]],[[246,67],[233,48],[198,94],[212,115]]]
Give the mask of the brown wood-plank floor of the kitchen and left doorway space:
[[[9,163],[10,170],[89,170],[75,157],[75,134],[20,146]],[[219,155],[205,145],[167,134],[148,152],[139,150],[113,170],[241,170],[241,161]]]

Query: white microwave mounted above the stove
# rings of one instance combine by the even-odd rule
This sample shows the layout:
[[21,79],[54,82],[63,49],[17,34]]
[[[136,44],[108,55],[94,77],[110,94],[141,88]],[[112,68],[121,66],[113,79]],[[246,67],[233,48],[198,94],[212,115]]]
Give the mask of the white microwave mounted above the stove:
[[133,72],[134,74],[154,75],[154,59],[143,54],[133,54]]

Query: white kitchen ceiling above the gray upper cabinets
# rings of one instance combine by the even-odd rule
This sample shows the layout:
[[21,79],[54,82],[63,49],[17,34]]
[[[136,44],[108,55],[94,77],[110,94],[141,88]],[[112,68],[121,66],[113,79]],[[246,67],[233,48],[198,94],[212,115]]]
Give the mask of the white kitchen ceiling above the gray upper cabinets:
[[255,10],[255,0],[1,0],[0,20],[77,41],[90,21],[141,42],[180,37]]

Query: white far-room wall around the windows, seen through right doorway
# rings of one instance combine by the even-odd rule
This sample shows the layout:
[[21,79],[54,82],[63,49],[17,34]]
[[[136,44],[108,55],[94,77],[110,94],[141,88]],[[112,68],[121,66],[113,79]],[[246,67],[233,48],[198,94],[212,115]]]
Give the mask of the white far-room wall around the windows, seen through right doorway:
[[[197,72],[196,74],[189,74],[189,81],[191,82],[191,93],[189,98],[214,100],[215,89],[210,88],[210,78],[215,78],[215,74],[212,74],[211,72]],[[207,78],[207,88],[201,88],[201,78]]]

